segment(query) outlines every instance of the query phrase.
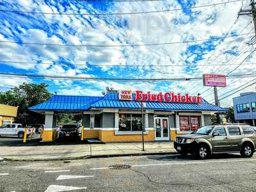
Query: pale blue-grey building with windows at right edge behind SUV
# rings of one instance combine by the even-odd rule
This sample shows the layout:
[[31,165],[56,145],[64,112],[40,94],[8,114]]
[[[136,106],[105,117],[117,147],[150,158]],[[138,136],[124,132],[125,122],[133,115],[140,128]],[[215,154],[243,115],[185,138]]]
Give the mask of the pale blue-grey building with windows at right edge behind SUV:
[[235,120],[256,125],[256,92],[241,93],[233,98]]

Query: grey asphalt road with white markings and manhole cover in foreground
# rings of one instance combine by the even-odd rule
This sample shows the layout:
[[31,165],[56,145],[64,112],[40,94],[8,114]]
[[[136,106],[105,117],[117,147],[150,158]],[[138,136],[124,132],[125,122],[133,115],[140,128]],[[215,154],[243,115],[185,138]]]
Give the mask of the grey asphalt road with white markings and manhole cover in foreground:
[[255,163],[234,154],[1,162],[0,191],[256,191]]

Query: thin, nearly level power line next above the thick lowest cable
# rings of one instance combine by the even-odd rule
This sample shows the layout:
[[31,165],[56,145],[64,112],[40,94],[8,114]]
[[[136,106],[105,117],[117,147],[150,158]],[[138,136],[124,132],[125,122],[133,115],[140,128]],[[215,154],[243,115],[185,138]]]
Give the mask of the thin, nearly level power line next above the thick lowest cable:
[[[20,63],[22,64],[36,64],[36,65],[82,65],[82,66],[100,66],[100,67],[198,67],[198,66],[225,66],[227,64],[204,64],[204,65],[172,65],[172,64],[140,64],[140,65],[136,65],[136,64],[122,64],[122,65],[118,65],[118,64],[88,64],[88,63],[38,63],[38,62],[31,62],[31,61],[1,61],[0,63],[12,63],[14,65],[20,65]],[[227,62],[223,62],[223,63],[227,63]],[[256,65],[256,63],[244,63],[247,65]],[[241,65],[241,63],[230,63],[228,65]]]

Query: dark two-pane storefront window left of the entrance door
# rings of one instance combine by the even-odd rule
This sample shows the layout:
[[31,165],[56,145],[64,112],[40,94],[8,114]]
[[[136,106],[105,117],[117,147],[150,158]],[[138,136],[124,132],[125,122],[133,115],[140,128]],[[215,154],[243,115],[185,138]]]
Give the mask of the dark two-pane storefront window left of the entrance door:
[[119,114],[119,131],[142,131],[140,114]]

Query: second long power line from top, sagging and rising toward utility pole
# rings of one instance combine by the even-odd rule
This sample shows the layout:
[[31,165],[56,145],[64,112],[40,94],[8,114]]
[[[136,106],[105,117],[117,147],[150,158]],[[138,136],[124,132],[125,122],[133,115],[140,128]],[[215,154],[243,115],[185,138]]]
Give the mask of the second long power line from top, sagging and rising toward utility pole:
[[154,46],[154,45],[188,44],[188,43],[193,43],[193,42],[204,42],[204,41],[208,41],[208,40],[220,40],[220,39],[224,39],[224,38],[234,38],[237,36],[244,36],[244,35],[250,35],[250,33],[244,33],[241,35],[212,37],[212,38],[205,38],[205,39],[199,39],[199,40],[188,40],[188,41],[183,41],[183,42],[167,42],[167,43],[157,43],[157,44],[131,44],[131,45],[46,44],[46,43],[33,43],[33,42],[14,42],[14,41],[6,41],[6,40],[0,40],[0,42],[8,43],[8,44],[49,45],[49,46],[63,46],[63,47],[139,47],[139,46]]

